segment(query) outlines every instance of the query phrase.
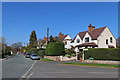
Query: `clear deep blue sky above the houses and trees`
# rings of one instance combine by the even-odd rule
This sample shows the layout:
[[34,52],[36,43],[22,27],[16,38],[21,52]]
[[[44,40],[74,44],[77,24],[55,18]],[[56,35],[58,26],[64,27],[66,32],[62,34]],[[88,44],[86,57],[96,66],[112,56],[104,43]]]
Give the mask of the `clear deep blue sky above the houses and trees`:
[[118,38],[117,2],[3,2],[2,35],[8,45],[28,43],[36,31],[37,39],[60,32],[74,38],[87,31],[89,24],[100,28],[108,26]]

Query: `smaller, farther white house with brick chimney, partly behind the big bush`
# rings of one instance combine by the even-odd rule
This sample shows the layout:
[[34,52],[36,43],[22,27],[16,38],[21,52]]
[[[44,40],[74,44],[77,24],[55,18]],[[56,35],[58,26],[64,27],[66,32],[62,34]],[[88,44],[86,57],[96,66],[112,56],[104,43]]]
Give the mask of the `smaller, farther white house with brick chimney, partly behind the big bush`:
[[72,41],[72,38],[70,37],[69,34],[64,35],[64,34],[62,34],[62,33],[60,32],[60,33],[59,33],[59,40],[64,42],[66,49],[70,49],[70,48],[71,48],[70,43],[71,43],[71,41]]

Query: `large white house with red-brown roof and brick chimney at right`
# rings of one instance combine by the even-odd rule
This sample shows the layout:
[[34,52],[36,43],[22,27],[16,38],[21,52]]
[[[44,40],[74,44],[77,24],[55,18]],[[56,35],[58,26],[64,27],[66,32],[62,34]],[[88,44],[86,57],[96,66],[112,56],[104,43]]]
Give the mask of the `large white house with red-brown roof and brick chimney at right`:
[[107,26],[95,29],[95,26],[90,24],[88,31],[78,33],[70,45],[76,50],[77,48],[116,48],[116,39]]

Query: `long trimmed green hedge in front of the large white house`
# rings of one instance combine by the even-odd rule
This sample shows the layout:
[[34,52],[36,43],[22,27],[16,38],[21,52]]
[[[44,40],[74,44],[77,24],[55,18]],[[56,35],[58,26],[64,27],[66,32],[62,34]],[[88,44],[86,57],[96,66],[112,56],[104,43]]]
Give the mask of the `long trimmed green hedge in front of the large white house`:
[[119,48],[91,48],[85,51],[85,59],[89,57],[94,60],[115,60],[120,61],[120,49]]

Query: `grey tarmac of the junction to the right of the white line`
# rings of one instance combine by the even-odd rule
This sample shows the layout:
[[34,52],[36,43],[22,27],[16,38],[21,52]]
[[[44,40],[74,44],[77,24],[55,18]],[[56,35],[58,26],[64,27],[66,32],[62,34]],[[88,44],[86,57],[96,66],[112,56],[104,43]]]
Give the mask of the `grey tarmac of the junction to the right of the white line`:
[[118,78],[118,69],[60,65],[37,61],[26,78]]

